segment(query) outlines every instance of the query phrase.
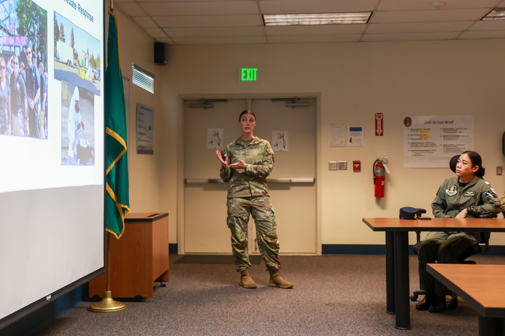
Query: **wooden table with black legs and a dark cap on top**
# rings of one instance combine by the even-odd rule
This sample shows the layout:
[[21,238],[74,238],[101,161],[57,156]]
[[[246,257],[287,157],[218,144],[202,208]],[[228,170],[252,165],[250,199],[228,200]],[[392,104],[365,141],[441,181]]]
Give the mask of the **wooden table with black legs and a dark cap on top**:
[[503,218],[363,218],[363,222],[386,233],[386,312],[396,314],[397,329],[410,329],[409,231],[505,232]]

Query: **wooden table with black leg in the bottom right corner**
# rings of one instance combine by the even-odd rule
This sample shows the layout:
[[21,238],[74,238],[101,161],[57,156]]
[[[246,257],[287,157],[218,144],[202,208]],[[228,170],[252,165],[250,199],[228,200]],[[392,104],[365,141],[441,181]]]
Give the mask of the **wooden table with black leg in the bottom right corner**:
[[480,336],[505,334],[505,265],[429,263],[426,269],[477,310]]

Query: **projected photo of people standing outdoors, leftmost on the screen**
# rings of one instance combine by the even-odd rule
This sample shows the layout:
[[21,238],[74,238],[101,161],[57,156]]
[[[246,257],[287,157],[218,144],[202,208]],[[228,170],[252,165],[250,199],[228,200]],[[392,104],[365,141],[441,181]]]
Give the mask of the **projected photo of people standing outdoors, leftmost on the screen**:
[[8,3],[0,14],[0,135],[47,139],[47,11],[31,0]]

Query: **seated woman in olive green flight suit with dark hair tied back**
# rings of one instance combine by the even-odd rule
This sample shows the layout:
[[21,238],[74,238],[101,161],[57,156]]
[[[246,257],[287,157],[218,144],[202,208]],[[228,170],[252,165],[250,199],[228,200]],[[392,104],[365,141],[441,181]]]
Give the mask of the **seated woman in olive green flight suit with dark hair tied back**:
[[[501,204],[496,192],[485,181],[482,159],[476,152],[460,155],[456,176],[446,179],[438,188],[431,204],[436,218],[466,218],[492,216],[500,213]],[[427,263],[459,263],[459,255],[480,242],[479,232],[430,232],[418,252],[421,289],[426,290],[417,310],[432,313],[446,309],[447,287],[426,271]]]

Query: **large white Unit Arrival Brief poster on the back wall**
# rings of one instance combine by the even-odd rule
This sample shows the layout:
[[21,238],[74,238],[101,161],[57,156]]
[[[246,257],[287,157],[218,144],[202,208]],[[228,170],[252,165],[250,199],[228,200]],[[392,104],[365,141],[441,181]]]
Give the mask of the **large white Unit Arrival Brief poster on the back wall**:
[[472,151],[472,115],[413,116],[403,119],[403,167],[447,168],[451,157]]

